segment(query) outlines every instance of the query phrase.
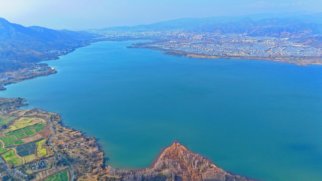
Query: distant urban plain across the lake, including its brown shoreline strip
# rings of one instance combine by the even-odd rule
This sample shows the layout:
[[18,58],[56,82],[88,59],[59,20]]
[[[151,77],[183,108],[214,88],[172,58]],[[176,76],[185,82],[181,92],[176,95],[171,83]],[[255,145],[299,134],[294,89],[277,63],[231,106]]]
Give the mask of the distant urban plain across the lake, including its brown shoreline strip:
[[130,48],[158,49],[179,56],[268,59],[298,65],[322,63],[322,48],[310,45],[310,40],[303,42],[303,37],[253,37],[245,33],[187,33],[170,30],[92,30],[92,33],[110,40],[150,39]]

